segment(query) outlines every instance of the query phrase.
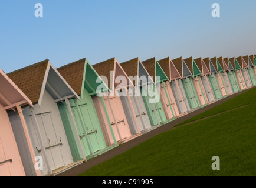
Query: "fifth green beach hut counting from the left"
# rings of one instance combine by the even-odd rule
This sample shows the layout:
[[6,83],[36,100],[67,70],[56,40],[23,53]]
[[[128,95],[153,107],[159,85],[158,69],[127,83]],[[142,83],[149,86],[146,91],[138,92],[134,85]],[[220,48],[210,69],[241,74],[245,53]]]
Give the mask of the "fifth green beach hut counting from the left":
[[234,68],[232,67],[228,58],[223,58],[223,62],[225,64],[224,67],[226,67],[224,69],[224,71],[228,75],[228,79],[229,79],[230,85],[232,87],[232,90],[233,90],[234,93],[237,93],[237,92],[240,91],[240,88],[239,88],[237,77],[235,76]]

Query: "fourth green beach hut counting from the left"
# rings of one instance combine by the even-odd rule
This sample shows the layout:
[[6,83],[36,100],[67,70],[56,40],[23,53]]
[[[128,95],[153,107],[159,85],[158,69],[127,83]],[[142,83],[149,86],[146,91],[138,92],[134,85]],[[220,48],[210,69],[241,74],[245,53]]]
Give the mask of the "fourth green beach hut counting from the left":
[[222,93],[221,93],[221,88],[219,86],[218,80],[216,79],[216,75],[215,75],[215,73],[217,73],[217,70],[214,68],[214,65],[212,65],[209,58],[205,58],[203,60],[208,70],[211,73],[211,75],[209,75],[208,78],[212,86],[212,91],[214,92],[215,100],[220,100],[222,98]]

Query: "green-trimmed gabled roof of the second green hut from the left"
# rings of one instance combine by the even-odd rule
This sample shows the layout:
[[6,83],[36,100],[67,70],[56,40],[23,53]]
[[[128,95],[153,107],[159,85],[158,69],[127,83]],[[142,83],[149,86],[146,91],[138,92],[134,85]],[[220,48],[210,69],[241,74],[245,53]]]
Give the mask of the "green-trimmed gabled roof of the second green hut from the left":
[[[162,67],[159,65],[159,63],[156,61],[156,58],[150,58],[146,61],[143,61],[142,64],[145,66],[147,72],[150,76],[153,76],[153,81],[157,83],[156,81],[166,81],[168,79],[168,76],[166,76],[165,72],[163,71]],[[156,80],[156,76],[159,76],[160,80]]]

